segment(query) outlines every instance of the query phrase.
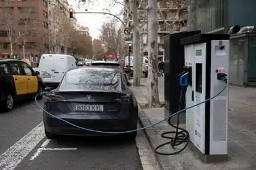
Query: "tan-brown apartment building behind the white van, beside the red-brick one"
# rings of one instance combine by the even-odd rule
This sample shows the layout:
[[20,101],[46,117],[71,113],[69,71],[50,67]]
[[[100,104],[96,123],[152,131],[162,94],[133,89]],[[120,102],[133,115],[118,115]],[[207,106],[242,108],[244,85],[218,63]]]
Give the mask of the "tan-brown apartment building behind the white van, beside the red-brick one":
[[49,44],[50,52],[55,54],[67,54],[69,46],[67,34],[69,29],[75,28],[77,20],[75,14],[69,18],[69,10],[73,8],[67,0],[48,0],[49,2]]

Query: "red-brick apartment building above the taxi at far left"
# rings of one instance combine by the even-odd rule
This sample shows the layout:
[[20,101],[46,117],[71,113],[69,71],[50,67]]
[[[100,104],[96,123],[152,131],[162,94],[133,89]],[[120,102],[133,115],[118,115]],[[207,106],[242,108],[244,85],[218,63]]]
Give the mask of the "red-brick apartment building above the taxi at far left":
[[48,52],[48,1],[0,1],[0,57],[28,58]]

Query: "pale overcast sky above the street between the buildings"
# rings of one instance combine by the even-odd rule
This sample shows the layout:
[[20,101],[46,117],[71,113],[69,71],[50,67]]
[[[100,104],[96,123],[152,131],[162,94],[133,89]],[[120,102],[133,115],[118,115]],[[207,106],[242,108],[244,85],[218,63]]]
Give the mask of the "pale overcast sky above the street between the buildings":
[[[111,9],[112,14],[117,14],[122,9],[121,5],[111,5],[111,0],[96,0],[94,4],[80,6],[78,0],[68,0],[68,2],[75,12],[108,12],[108,9]],[[85,11],[85,9],[88,11]],[[97,39],[100,36],[99,29],[110,16],[103,14],[75,14],[75,17],[77,18],[77,23],[89,28],[92,39]]]

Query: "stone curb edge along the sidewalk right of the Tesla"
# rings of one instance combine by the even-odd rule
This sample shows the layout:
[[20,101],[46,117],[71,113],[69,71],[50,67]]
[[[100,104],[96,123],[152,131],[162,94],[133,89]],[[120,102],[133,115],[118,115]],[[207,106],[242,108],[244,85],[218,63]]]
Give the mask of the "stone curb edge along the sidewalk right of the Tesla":
[[[139,123],[141,127],[145,127],[145,126],[149,126],[151,123],[147,117],[147,115],[144,113],[144,111],[142,110],[142,108],[140,107],[140,104],[138,104],[139,107]],[[156,136],[158,136],[158,134],[155,131],[152,131]],[[146,129],[143,130],[143,133],[145,134],[145,137],[147,138],[148,144],[150,145],[150,148],[153,152],[153,156],[156,160],[156,163],[158,164],[158,166],[160,167],[160,170],[164,170],[163,166],[160,163],[160,160],[158,159],[158,155],[155,152],[155,147],[153,146],[151,140],[150,140],[150,136],[147,132]]]

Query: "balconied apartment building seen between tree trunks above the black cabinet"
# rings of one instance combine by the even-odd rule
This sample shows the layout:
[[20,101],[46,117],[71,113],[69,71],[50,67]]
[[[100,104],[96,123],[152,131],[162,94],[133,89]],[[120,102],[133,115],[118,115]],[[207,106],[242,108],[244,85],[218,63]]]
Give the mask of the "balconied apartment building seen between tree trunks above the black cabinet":
[[[186,25],[187,25],[187,7],[180,8],[182,4],[179,4],[178,2],[182,1],[173,1],[173,0],[163,0],[158,2],[158,5],[161,9],[158,11],[158,58],[163,59],[164,57],[164,36],[179,32],[179,31],[186,31]],[[126,2],[127,3],[127,2]],[[179,12],[179,15],[177,16],[178,9],[181,9]],[[144,16],[144,9],[143,7],[139,7],[139,21],[140,23],[143,21]],[[163,15],[161,15],[163,14]],[[127,15],[127,11],[124,12],[124,15]],[[176,18],[179,17],[179,18]],[[177,20],[172,26],[170,26],[170,23],[173,23],[174,20]],[[129,19],[126,22],[132,23],[132,16],[129,15]],[[166,24],[169,23],[169,24]],[[130,24],[129,24],[130,25]],[[144,49],[143,53],[145,56],[148,55],[148,33],[147,33],[147,20],[146,24],[144,25],[144,33],[143,33],[143,44]]]

